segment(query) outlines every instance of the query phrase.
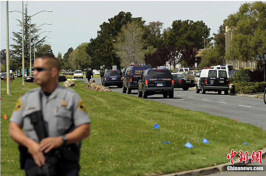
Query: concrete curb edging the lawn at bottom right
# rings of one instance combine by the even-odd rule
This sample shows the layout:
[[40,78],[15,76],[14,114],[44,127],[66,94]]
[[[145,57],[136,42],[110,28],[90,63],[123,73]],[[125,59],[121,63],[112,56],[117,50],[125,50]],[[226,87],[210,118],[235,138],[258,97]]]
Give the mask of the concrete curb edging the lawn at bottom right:
[[[266,156],[266,147],[261,149],[262,151],[262,157]],[[234,165],[246,165],[246,163],[240,163],[238,159],[233,159]],[[251,162],[251,155],[249,156],[249,162]],[[250,163],[247,163],[250,164]],[[161,176],[200,176],[200,175],[209,175],[213,174],[216,172],[223,172],[224,171],[224,166],[228,165],[231,166],[230,162],[226,162],[224,164],[220,164],[217,166],[210,166],[210,167],[205,167],[201,169],[194,169],[194,170],[189,170],[189,171],[184,171],[184,172],[178,172],[178,173],[173,173],[173,174],[166,174],[166,175],[161,175]]]

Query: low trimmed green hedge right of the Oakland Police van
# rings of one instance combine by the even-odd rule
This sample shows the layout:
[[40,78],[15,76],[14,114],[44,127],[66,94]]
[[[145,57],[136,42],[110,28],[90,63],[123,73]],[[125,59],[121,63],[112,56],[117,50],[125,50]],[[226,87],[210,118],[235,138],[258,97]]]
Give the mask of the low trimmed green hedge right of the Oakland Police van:
[[248,94],[264,92],[266,87],[266,82],[242,82],[233,83],[232,87],[229,89],[231,93]]

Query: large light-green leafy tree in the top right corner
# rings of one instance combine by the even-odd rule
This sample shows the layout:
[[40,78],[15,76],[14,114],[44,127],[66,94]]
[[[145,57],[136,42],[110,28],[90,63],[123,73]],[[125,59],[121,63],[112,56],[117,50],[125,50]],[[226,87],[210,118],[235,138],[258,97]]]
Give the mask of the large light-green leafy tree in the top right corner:
[[244,3],[225,22],[232,31],[227,59],[250,61],[257,54],[266,54],[266,3]]

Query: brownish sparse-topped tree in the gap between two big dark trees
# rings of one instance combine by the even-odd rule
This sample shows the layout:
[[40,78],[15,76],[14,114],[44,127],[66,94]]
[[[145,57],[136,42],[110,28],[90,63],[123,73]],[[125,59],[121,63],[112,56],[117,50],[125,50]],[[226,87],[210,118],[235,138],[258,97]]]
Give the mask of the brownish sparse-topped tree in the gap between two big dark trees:
[[153,46],[154,48],[159,47],[163,44],[161,29],[163,29],[163,22],[149,22],[145,26],[148,30],[147,33],[147,44]]

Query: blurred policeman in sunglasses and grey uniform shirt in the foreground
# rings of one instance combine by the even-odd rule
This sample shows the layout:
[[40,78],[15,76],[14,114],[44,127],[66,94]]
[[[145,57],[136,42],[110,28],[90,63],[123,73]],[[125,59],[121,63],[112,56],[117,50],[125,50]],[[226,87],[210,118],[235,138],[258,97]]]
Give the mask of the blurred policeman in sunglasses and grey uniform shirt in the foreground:
[[[25,93],[17,101],[10,118],[9,135],[21,146],[25,146],[28,156],[25,159],[25,172],[33,167],[46,164],[46,154],[60,147],[72,145],[80,150],[80,141],[90,134],[90,118],[85,104],[72,89],[57,83],[60,65],[51,55],[42,55],[35,60],[34,80],[40,85]],[[29,114],[42,111],[46,138],[38,139]],[[22,132],[24,127],[24,132]],[[67,148],[72,150],[71,147]],[[57,153],[58,154],[58,153]],[[67,160],[68,156],[58,154],[56,175],[78,175],[77,161]],[[38,168],[37,167],[37,168]]]

